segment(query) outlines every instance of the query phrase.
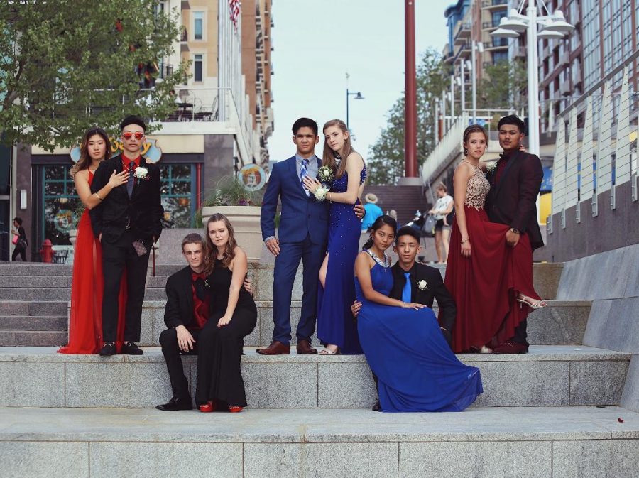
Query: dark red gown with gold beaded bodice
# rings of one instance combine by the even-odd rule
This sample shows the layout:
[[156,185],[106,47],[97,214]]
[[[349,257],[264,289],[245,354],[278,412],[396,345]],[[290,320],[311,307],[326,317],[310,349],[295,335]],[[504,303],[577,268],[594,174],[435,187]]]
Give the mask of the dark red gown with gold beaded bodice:
[[456,353],[470,347],[497,347],[515,335],[529,308],[515,299],[518,293],[539,300],[532,286],[532,250],[527,234],[514,248],[506,244],[506,224],[490,222],[484,210],[490,184],[477,168],[466,186],[466,228],[471,256],[461,256],[461,233],[452,226],[444,284],[457,305],[452,331]]

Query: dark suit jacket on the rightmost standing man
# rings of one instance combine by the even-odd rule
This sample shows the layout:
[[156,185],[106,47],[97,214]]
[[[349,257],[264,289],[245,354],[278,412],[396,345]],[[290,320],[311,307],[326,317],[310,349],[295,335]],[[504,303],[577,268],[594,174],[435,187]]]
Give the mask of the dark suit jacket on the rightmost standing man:
[[527,233],[532,250],[543,246],[537,222],[537,195],[544,178],[540,159],[534,154],[515,151],[511,153],[497,185],[496,171],[497,168],[488,174],[491,190],[486,197],[486,213],[491,222]]

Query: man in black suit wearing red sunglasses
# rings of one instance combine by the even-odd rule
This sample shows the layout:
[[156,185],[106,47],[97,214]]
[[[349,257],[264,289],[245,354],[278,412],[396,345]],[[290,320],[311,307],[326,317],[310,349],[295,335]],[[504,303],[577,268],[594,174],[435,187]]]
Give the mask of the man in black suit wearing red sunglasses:
[[[126,310],[121,353],[141,355],[135,344],[140,340],[142,303],[146,269],[153,243],[160,238],[164,208],[160,198],[160,168],[146,161],[140,149],[146,124],[138,116],[128,116],[120,124],[124,151],[120,156],[100,163],[91,192],[101,201],[89,212],[94,235],[102,244],[104,300],[102,331],[104,346],[100,355],[117,353],[116,336],[119,317],[118,295],[121,279],[126,275]],[[127,171],[126,183],[102,197],[100,190],[113,174]]]

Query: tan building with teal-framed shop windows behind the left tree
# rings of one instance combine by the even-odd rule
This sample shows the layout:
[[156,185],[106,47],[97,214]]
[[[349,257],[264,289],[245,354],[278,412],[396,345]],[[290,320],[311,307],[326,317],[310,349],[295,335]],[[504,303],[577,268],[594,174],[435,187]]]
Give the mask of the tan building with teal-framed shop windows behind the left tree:
[[[167,227],[199,227],[196,213],[221,178],[249,163],[268,168],[267,141],[273,133],[271,3],[157,3],[159,10],[178,14],[182,36],[169,58],[143,67],[151,75],[143,75],[141,87],[153,88],[155,76],[161,79],[180,61],[191,62],[190,77],[176,88],[175,114],[153,119],[161,128],[148,135],[147,146],[160,161]],[[64,148],[50,153],[17,144],[0,151],[0,260],[9,258],[10,219],[15,216],[24,221],[29,260],[38,260],[44,239],[50,239],[54,249],[71,249],[70,218],[78,202],[69,175],[72,164]]]

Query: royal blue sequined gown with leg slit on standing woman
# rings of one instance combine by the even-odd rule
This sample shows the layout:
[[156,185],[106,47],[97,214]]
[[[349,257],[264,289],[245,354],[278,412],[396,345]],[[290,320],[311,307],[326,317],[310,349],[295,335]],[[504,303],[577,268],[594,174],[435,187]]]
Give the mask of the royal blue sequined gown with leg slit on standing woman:
[[[366,166],[359,183],[366,179]],[[331,192],[346,192],[349,175],[344,172],[331,185]],[[359,200],[358,200],[359,202]],[[320,283],[317,293],[317,337],[323,344],[336,344],[342,354],[361,354],[357,325],[351,313],[355,300],[353,271],[359,252],[361,222],[352,204],[332,202],[329,212],[329,261],[326,288]]]

